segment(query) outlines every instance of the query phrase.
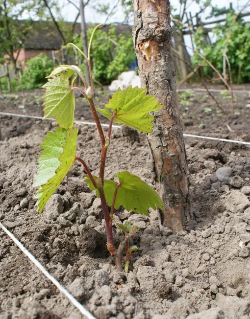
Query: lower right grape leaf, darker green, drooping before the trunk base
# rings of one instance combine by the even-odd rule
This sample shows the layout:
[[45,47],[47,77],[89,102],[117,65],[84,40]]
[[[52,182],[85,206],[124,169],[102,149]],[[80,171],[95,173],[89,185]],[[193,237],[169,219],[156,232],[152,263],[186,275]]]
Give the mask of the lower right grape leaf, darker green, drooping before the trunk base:
[[[91,180],[85,176],[85,182],[89,184],[91,190],[96,190],[97,196],[100,197],[98,190],[94,187]],[[159,198],[157,192],[153,190],[146,182],[143,182],[139,177],[130,174],[127,171],[116,174],[114,177],[119,178],[120,186],[116,195],[115,208],[120,206],[129,211],[133,210],[135,213],[145,214],[149,216],[148,208],[155,209],[158,206],[163,209],[163,203]],[[94,176],[96,180],[97,177]],[[111,180],[104,180],[104,193],[107,204],[112,205],[117,182]]]

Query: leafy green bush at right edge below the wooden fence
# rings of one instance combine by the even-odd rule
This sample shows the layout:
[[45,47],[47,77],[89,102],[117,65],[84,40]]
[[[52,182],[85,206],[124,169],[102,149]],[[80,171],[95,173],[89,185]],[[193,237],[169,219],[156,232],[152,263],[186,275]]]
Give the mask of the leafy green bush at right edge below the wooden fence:
[[[235,16],[230,13],[227,16],[226,25],[217,25],[213,29],[216,35],[215,43],[205,44],[203,31],[198,29],[195,42],[197,50],[217,68],[220,73],[223,72],[223,53],[227,44],[226,55],[230,62],[232,79],[234,83],[250,82],[250,23],[244,23],[242,20],[235,21]],[[227,39],[229,34],[229,38]],[[203,74],[205,77],[212,78],[214,71],[204,60],[194,54],[193,64],[205,65]],[[228,67],[227,67],[228,74]],[[216,76],[217,77],[217,76]]]

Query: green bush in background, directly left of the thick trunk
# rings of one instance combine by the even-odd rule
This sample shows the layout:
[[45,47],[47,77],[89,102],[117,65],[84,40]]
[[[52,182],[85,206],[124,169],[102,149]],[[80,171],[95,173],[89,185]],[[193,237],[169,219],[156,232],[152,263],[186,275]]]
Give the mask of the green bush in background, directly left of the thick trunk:
[[[87,30],[88,41],[94,28]],[[82,49],[81,36],[75,35],[74,43]],[[97,30],[91,47],[91,64],[94,78],[102,84],[109,84],[123,71],[129,70],[136,55],[132,36],[116,35],[116,29],[110,26],[108,32]],[[84,62],[81,65],[85,71]]]

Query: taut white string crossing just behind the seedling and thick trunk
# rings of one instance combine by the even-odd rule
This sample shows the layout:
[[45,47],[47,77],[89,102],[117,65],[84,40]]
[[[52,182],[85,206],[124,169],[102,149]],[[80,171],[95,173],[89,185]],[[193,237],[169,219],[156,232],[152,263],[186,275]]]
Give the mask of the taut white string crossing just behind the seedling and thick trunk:
[[[43,119],[43,117],[39,116],[32,116],[32,115],[23,115],[23,114],[12,114],[12,113],[3,113],[0,112],[2,115],[10,115],[10,116],[20,116],[20,117],[28,117],[28,118],[37,118],[37,119]],[[46,118],[47,120],[53,121],[54,119]],[[81,125],[91,125],[96,126],[96,123],[94,122],[81,122],[81,121],[75,121],[76,124]],[[109,127],[109,124],[101,124],[101,126]],[[120,129],[121,125],[113,125],[112,128]],[[195,137],[195,138],[203,138],[203,139],[210,139],[215,141],[221,141],[221,142],[229,142],[229,143],[236,143],[236,144],[243,144],[243,145],[250,145],[250,142],[244,142],[244,141],[238,141],[234,139],[225,139],[225,138],[217,138],[217,137],[207,137],[207,136],[200,136],[200,135],[190,135],[190,134],[183,134],[184,137]]]

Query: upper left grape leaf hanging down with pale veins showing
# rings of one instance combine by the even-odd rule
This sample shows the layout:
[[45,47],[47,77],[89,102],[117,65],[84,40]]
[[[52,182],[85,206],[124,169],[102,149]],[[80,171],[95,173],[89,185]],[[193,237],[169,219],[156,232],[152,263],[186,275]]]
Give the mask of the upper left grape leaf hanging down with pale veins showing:
[[64,74],[56,76],[43,86],[44,94],[44,119],[54,116],[55,124],[65,129],[74,125],[75,96],[70,87],[70,81]]

